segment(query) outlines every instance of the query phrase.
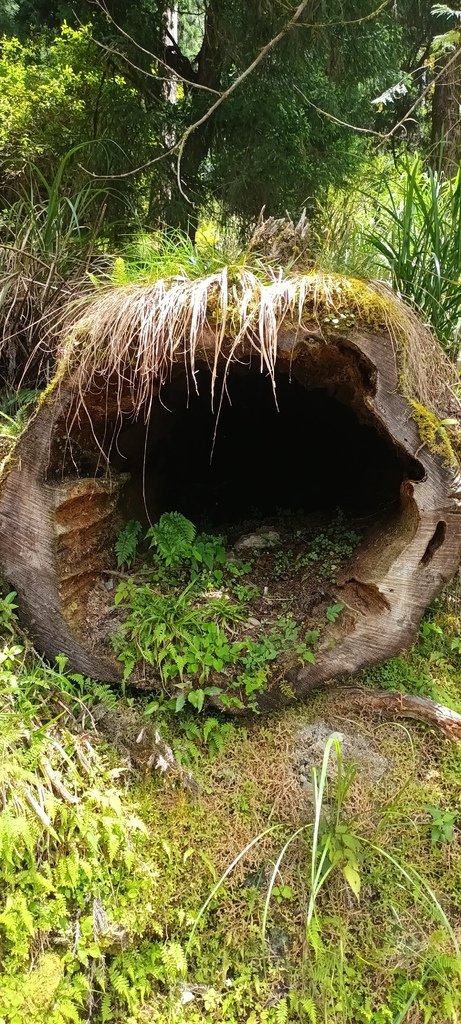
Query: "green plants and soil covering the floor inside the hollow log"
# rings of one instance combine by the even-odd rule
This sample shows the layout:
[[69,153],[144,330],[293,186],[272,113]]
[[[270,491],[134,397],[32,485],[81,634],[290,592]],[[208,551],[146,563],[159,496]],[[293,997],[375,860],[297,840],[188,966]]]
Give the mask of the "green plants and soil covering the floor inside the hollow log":
[[[298,532],[302,537],[305,530]],[[273,552],[264,579],[271,568],[278,580],[291,578],[296,596],[295,581],[306,581],[312,570],[334,581],[360,537],[338,514],[312,534],[302,555],[268,529],[266,540],[263,532],[255,538],[262,550],[246,549],[244,560],[235,549],[226,550],[224,537],[198,532],[179,512],[168,512],[148,530],[150,550],[136,560],[140,540],[140,524],[131,520],[116,543],[119,567],[135,563],[115,595],[123,617],[112,642],[124,681],[148,680],[170,697],[167,706],[176,712],[186,702],[200,712],[210,698],[221,709],[257,710],[257,695],[269,685],[276,663],[285,668],[315,663],[322,628],[344,607],[333,601],[312,629],[296,618],[295,601],[287,597],[278,599],[279,612],[267,602],[264,610],[267,587],[256,585],[254,577],[258,559]]]

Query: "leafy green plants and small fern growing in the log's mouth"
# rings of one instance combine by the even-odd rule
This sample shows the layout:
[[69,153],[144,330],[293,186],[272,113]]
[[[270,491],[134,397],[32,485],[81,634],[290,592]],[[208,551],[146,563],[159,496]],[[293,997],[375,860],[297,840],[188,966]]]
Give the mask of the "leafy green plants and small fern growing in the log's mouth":
[[151,580],[123,581],[115,597],[126,611],[113,637],[125,680],[136,667],[152,667],[153,683],[175,692],[177,712],[186,703],[201,712],[209,697],[219,697],[222,707],[254,707],[279,657],[315,660],[318,634],[302,636],[289,615],[259,638],[245,636],[245,626],[243,638],[233,638],[253,590],[239,585],[249,566],[227,559],[222,537],[198,534],[178,512],[164,513],[146,536],[154,548]]

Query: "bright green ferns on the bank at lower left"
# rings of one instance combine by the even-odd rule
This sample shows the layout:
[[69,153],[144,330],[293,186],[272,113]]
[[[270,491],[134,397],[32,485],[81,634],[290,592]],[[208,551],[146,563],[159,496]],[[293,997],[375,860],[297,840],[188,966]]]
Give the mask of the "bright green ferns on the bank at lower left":
[[[13,598],[0,608],[8,633]],[[19,644],[0,651],[0,1017],[80,1024],[96,997],[98,1020],[126,1019],[154,981],[169,984],[168,947],[150,909],[143,822],[110,752],[71,731],[97,687]],[[141,933],[149,949],[130,952]]]

